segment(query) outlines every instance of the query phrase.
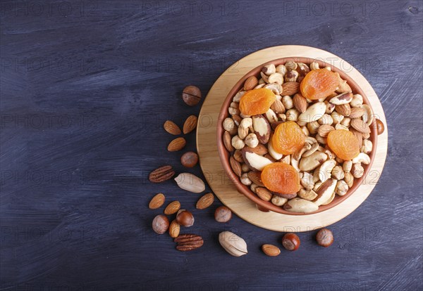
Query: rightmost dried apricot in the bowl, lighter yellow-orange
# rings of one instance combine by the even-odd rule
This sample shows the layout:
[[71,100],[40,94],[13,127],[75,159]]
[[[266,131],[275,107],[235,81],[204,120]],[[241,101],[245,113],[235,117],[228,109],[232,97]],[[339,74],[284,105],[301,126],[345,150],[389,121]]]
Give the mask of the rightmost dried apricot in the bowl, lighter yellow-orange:
[[360,153],[360,144],[355,135],[345,129],[336,129],[328,134],[328,145],[333,153],[341,159],[348,161]]

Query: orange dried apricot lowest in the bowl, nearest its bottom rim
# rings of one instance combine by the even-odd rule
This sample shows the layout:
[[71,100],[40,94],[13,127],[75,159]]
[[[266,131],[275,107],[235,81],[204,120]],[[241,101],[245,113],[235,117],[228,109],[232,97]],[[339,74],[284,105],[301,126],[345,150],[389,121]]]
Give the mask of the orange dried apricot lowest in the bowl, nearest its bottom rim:
[[274,162],[264,167],[262,182],[266,188],[281,194],[293,194],[300,190],[300,176],[290,164]]

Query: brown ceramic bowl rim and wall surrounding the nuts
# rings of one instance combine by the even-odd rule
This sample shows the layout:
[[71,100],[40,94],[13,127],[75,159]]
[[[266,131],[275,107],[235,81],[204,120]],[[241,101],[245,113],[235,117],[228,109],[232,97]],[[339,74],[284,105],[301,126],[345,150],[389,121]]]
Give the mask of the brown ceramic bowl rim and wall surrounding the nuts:
[[250,188],[248,186],[245,186],[245,185],[243,185],[243,183],[240,182],[240,178],[233,172],[231,165],[229,164],[229,157],[230,157],[231,153],[228,153],[228,150],[226,150],[225,145],[223,145],[223,132],[225,130],[223,129],[222,122],[229,115],[228,114],[228,107],[232,102],[233,96],[235,96],[235,94],[238,93],[238,91],[243,89],[244,82],[248,77],[256,76],[257,78],[260,78],[260,71],[262,70],[262,67],[264,67],[265,65],[269,65],[271,63],[273,63],[274,65],[280,65],[280,64],[286,63],[286,61],[288,61],[288,60],[294,60],[295,62],[305,63],[307,65],[309,65],[312,62],[317,62],[317,63],[319,63],[319,67],[330,66],[332,71],[338,72],[339,75],[344,80],[346,80],[348,82],[351,89],[353,90],[353,93],[355,93],[355,94],[358,93],[358,94],[362,95],[363,96],[363,103],[369,105],[370,108],[372,108],[372,106],[369,103],[369,100],[367,99],[366,93],[364,93],[364,91],[362,91],[360,86],[353,79],[351,79],[347,74],[345,74],[345,72],[343,72],[342,70],[339,70],[337,67],[333,67],[333,66],[329,65],[328,63],[324,63],[321,60],[314,60],[312,58],[303,58],[303,57],[278,58],[277,60],[271,60],[270,62],[259,65],[258,67],[255,67],[253,70],[248,72],[247,75],[242,77],[238,81],[238,83],[236,83],[235,86],[231,89],[231,91],[229,91],[228,96],[226,96],[225,101],[223,101],[221,112],[219,114],[219,121],[218,121],[218,124],[217,124],[217,148],[219,150],[219,157],[221,159],[223,169],[225,170],[226,174],[228,174],[229,178],[233,181],[233,183],[235,183],[235,186],[238,189],[238,192],[245,195],[247,198],[252,200],[252,202],[255,202],[257,204],[258,209],[260,209],[264,212],[273,211],[273,212],[289,214],[289,215],[309,215],[309,214],[319,213],[319,212],[323,212],[327,209],[330,209],[330,208],[338,205],[339,203],[343,202],[344,200],[348,199],[351,195],[353,195],[355,190],[357,190],[357,188],[362,184],[364,177],[367,176],[367,174],[369,173],[369,170],[372,168],[372,164],[373,164],[373,161],[374,161],[374,155],[376,153],[376,147],[377,147],[377,132],[376,132],[375,128],[373,126],[371,126],[372,133],[370,134],[369,140],[372,141],[372,143],[373,143],[373,150],[372,150],[372,153],[369,154],[370,164],[368,164],[367,167],[364,165],[364,167],[365,167],[364,168],[364,175],[360,179],[355,179],[353,187],[351,187],[345,195],[343,195],[343,196],[335,195],[335,198],[333,199],[333,201],[331,203],[329,203],[329,205],[319,206],[319,209],[316,212],[297,213],[297,212],[288,212],[285,209],[283,209],[282,207],[276,206],[276,205],[272,204],[271,202],[267,202],[267,201],[260,199],[255,193],[252,192],[252,190],[250,190]]

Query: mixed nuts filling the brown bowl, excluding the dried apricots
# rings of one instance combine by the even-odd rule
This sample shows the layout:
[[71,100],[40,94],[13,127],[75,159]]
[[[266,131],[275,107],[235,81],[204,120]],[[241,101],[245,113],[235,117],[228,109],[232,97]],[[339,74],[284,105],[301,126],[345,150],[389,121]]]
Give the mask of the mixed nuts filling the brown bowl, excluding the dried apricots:
[[[331,95],[318,100],[302,96],[301,82],[312,70],[319,70],[319,63],[308,66],[288,61],[266,65],[260,79],[251,76],[245,80],[228,108],[230,117],[223,120],[223,145],[231,155],[229,163],[240,182],[250,186],[262,200],[288,212],[316,212],[320,205],[329,205],[336,195],[348,193],[371,162],[372,129],[376,129],[376,134],[384,131],[384,124],[374,118],[372,108],[363,103],[360,94],[353,93],[338,72],[334,72],[338,85]],[[271,90],[276,101],[264,114],[243,115],[241,98],[261,88]],[[284,122],[295,122],[305,135],[302,148],[289,155],[278,153],[270,142],[276,127]],[[341,159],[329,148],[327,137],[335,130],[350,131],[357,138],[360,153],[357,148],[359,154],[352,160]],[[297,193],[275,193],[264,186],[260,179],[262,170],[274,162],[290,164],[298,172]]]

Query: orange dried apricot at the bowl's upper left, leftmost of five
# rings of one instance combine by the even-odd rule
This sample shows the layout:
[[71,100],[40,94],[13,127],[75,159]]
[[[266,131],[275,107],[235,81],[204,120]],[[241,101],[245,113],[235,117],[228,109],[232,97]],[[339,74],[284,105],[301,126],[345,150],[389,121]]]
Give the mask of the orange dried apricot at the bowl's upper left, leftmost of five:
[[243,115],[259,115],[266,113],[270,106],[275,102],[275,94],[266,88],[247,91],[241,97],[240,110]]

